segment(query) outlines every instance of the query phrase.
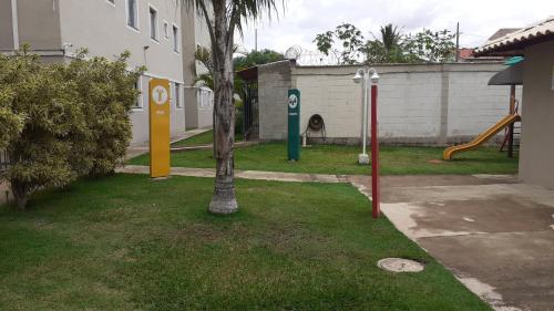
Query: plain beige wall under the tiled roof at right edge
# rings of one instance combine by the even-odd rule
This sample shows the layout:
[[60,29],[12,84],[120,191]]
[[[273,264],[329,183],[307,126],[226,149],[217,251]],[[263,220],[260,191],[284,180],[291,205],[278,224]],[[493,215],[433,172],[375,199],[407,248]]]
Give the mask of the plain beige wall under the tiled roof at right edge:
[[554,189],[554,42],[525,49],[520,178]]

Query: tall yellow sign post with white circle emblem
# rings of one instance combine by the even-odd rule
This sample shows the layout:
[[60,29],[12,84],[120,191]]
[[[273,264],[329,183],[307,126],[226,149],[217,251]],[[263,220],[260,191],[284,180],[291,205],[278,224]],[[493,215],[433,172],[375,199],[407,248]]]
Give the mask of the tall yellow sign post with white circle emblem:
[[170,81],[150,81],[150,176],[167,177],[170,165]]

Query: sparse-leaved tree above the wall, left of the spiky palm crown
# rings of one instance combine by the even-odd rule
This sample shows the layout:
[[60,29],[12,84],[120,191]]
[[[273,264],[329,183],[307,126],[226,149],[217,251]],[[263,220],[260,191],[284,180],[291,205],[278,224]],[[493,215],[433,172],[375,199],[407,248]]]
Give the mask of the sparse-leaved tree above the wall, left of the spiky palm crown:
[[356,25],[342,23],[335,31],[316,35],[314,42],[318,51],[337,59],[337,64],[351,65],[360,62],[363,55],[363,35]]

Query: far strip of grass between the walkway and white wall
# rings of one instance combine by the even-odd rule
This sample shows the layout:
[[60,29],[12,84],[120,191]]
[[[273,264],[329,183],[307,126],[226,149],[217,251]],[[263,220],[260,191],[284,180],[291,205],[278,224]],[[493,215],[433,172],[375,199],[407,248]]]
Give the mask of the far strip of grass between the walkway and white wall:
[[[517,158],[507,158],[494,147],[459,154],[451,162],[442,160],[440,147],[381,147],[383,175],[412,174],[516,174]],[[237,169],[312,173],[312,174],[369,174],[369,166],[357,164],[359,147],[314,146],[301,149],[298,163],[287,160],[284,143],[261,144],[235,151]],[[131,159],[130,164],[148,165],[148,156]],[[172,154],[172,165],[181,167],[214,167],[212,151]]]

